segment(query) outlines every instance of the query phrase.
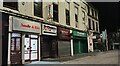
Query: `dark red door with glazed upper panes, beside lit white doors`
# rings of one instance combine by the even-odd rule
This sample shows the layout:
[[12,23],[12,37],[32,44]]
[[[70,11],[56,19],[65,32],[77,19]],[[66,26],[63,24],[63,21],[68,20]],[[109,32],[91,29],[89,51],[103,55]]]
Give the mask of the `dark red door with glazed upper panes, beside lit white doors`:
[[11,33],[10,51],[11,64],[21,64],[21,34]]

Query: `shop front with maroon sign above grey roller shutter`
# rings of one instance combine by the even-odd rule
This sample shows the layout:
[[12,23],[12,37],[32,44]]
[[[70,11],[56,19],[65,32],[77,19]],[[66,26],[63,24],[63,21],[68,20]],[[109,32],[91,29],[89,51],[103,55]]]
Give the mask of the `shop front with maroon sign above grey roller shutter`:
[[70,30],[58,27],[58,57],[71,55]]

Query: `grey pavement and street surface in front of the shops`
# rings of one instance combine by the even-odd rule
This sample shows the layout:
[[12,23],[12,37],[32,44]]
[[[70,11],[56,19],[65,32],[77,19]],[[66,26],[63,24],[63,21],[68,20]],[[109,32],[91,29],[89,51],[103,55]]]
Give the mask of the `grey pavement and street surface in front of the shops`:
[[[74,56],[47,58],[30,64],[117,64],[117,52],[115,50],[105,52],[91,52],[76,54]],[[115,56],[115,57],[114,57]],[[106,60],[105,60],[106,59]],[[111,61],[113,60],[113,61]]]

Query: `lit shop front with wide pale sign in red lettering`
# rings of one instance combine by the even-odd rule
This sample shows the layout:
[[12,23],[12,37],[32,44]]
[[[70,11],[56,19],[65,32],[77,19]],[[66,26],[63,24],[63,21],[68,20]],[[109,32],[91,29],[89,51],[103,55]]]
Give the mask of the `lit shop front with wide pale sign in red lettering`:
[[40,60],[40,31],[41,25],[38,22],[9,17],[8,64]]

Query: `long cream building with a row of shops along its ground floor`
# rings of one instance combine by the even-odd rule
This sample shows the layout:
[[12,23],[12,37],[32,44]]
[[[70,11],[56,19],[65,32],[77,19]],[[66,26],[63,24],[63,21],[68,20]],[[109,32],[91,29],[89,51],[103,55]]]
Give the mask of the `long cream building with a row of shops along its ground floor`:
[[[26,64],[44,58],[73,56],[87,53],[89,45],[93,46],[88,19],[96,25],[90,29],[92,34],[99,33],[99,21],[88,15],[88,4],[84,0],[15,1],[0,2],[3,23],[0,45],[5,50],[2,64]],[[93,51],[93,47],[91,49]]]

